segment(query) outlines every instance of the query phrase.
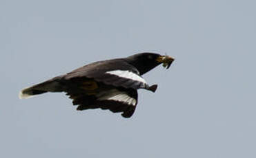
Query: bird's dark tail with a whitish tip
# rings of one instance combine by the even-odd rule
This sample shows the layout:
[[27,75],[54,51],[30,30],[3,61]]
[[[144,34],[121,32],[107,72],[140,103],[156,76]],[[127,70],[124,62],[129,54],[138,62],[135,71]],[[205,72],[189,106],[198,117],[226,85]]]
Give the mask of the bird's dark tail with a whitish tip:
[[57,76],[56,78],[52,78],[50,80],[46,80],[45,82],[41,82],[39,84],[35,84],[32,87],[27,87],[22,89],[19,92],[19,98],[31,98],[35,95],[39,95],[46,92],[61,92],[63,91],[63,85],[60,80],[61,76]]

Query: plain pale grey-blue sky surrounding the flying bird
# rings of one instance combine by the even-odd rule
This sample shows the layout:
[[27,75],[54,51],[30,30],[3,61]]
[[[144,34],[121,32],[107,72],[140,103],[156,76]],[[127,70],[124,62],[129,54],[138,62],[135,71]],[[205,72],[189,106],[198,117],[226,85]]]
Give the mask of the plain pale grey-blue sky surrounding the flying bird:
[[[256,157],[255,1],[0,1],[0,157]],[[24,87],[138,52],[176,58],[144,78],[130,119]]]

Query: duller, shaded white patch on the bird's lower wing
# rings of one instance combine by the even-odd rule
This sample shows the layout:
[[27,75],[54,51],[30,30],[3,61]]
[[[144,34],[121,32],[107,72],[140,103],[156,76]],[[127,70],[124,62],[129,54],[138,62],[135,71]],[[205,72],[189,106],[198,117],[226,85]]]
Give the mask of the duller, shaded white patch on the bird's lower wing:
[[130,97],[124,91],[118,91],[117,89],[112,89],[110,91],[104,91],[96,95],[97,100],[115,100],[119,102],[125,102],[126,104],[130,104],[135,106],[137,100],[135,98]]

